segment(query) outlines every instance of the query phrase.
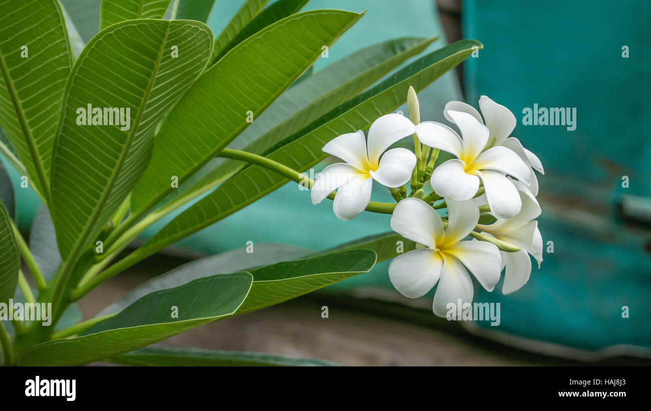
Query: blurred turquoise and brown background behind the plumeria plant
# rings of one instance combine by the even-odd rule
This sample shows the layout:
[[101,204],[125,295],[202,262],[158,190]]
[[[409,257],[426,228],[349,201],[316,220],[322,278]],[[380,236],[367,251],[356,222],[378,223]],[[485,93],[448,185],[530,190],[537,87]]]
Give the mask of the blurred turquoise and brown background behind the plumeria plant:
[[[242,3],[217,0],[208,22],[214,33]],[[539,176],[542,267],[534,265],[529,282],[509,296],[501,295],[501,284],[492,293],[476,284],[475,302],[501,303],[499,326],[435,317],[434,293],[402,297],[389,282],[387,261],[318,293],[159,345],[275,352],[346,365],[651,364],[651,2],[312,0],[306,7],[315,8],[368,8],[316,70],[396,37],[440,35],[429,51],[460,38],[484,44],[419,93],[421,119],[445,122],[447,101],[478,108],[481,95],[516,115],[514,137],[546,171]],[[79,31],[85,40],[94,34]],[[534,104],[575,108],[575,130],[524,126],[523,109]],[[20,187],[19,176],[10,174]],[[388,192],[376,194],[374,200],[393,201]],[[20,228],[27,232],[38,200],[27,190],[17,189],[16,196]],[[79,315],[92,317],[154,275],[247,241],[324,250],[390,230],[388,215],[363,213],[344,222],[331,207],[312,206],[308,192],[288,184],[113,278],[79,302]],[[295,215],[303,217],[290,217]]]

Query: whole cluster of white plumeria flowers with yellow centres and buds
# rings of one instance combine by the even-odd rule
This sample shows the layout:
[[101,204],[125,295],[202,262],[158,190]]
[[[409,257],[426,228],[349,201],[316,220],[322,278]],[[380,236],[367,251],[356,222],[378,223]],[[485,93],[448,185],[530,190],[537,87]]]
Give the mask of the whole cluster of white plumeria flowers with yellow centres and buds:
[[[318,176],[312,203],[338,190],[335,215],[350,220],[368,206],[373,180],[393,189],[399,201],[391,229],[415,241],[417,248],[391,261],[389,278],[409,298],[422,297],[438,283],[433,309],[440,317],[450,315],[450,303],[472,302],[468,271],[482,287],[493,291],[505,269],[502,292],[513,293],[529,280],[527,254],[538,267],[542,262],[542,237],[535,220],[541,210],[534,173],[544,173],[540,160],[510,137],[516,126],[514,114],[486,96],[479,99],[482,114],[461,101],[445,106],[445,118],[458,127],[461,137],[445,124],[420,122],[412,88],[408,104],[411,120],[402,114],[381,116],[368,130],[368,143],[364,133],[357,131],[324,146],[324,152],[345,163],[327,166]],[[415,151],[422,150],[421,157],[405,148],[386,151],[409,135],[417,136]],[[434,168],[439,150],[456,158]],[[421,187],[427,179],[432,192],[424,194]],[[409,181],[407,196],[402,186]],[[447,207],[447,217],[437,213],[441,206]],[[480,208],[494,217],[492,224],[478,224]],[[464,241],[471,233],[475,239]]]

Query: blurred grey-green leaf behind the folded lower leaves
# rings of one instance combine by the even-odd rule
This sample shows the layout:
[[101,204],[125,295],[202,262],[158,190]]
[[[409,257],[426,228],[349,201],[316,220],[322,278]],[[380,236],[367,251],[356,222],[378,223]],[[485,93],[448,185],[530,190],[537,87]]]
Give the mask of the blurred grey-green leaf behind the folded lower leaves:
[[236,248],[206,258],[190,261],[172,271],[152,278],[145,284],[129,291],[122,298],[102,310],[97,316],[102,317],[117,313],[130,306],[139,298],[159,289],[177,287],[186,282],[212,275],[215,271],[235,272],[301,258],[310,254],[310,250],[286,244],[256,244],[255,252],[247,252],[247,247]]

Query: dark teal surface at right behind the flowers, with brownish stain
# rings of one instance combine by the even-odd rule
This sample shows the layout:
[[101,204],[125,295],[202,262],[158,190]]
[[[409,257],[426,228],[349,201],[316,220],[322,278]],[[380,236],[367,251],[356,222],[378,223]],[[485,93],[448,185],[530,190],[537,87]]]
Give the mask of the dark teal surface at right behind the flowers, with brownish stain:
[[[486,94],[516,114],[513,135],[545,166],[540,231],[555,245],[517,293],[478,290],[502,304],[501,325],[482,329],[590,351],[651,347],[651,233],[615,218],[622,194],[651,196],[650,18],[648,1],[464,1],[464,36],[485,47],[467,60],[467,102]],[[534,103],[576,107],[575,131],[523,126]]]

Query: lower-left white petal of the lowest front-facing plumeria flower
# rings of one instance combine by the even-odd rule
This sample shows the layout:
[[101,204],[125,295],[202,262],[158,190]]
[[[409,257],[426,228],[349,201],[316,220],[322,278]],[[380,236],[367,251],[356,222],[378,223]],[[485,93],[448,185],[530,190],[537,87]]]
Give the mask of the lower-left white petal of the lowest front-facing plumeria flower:
[[439,280],[443,259],[432,248],[400,254],[389,265],[389,280],[400,294],[409,298],[425,295]]

